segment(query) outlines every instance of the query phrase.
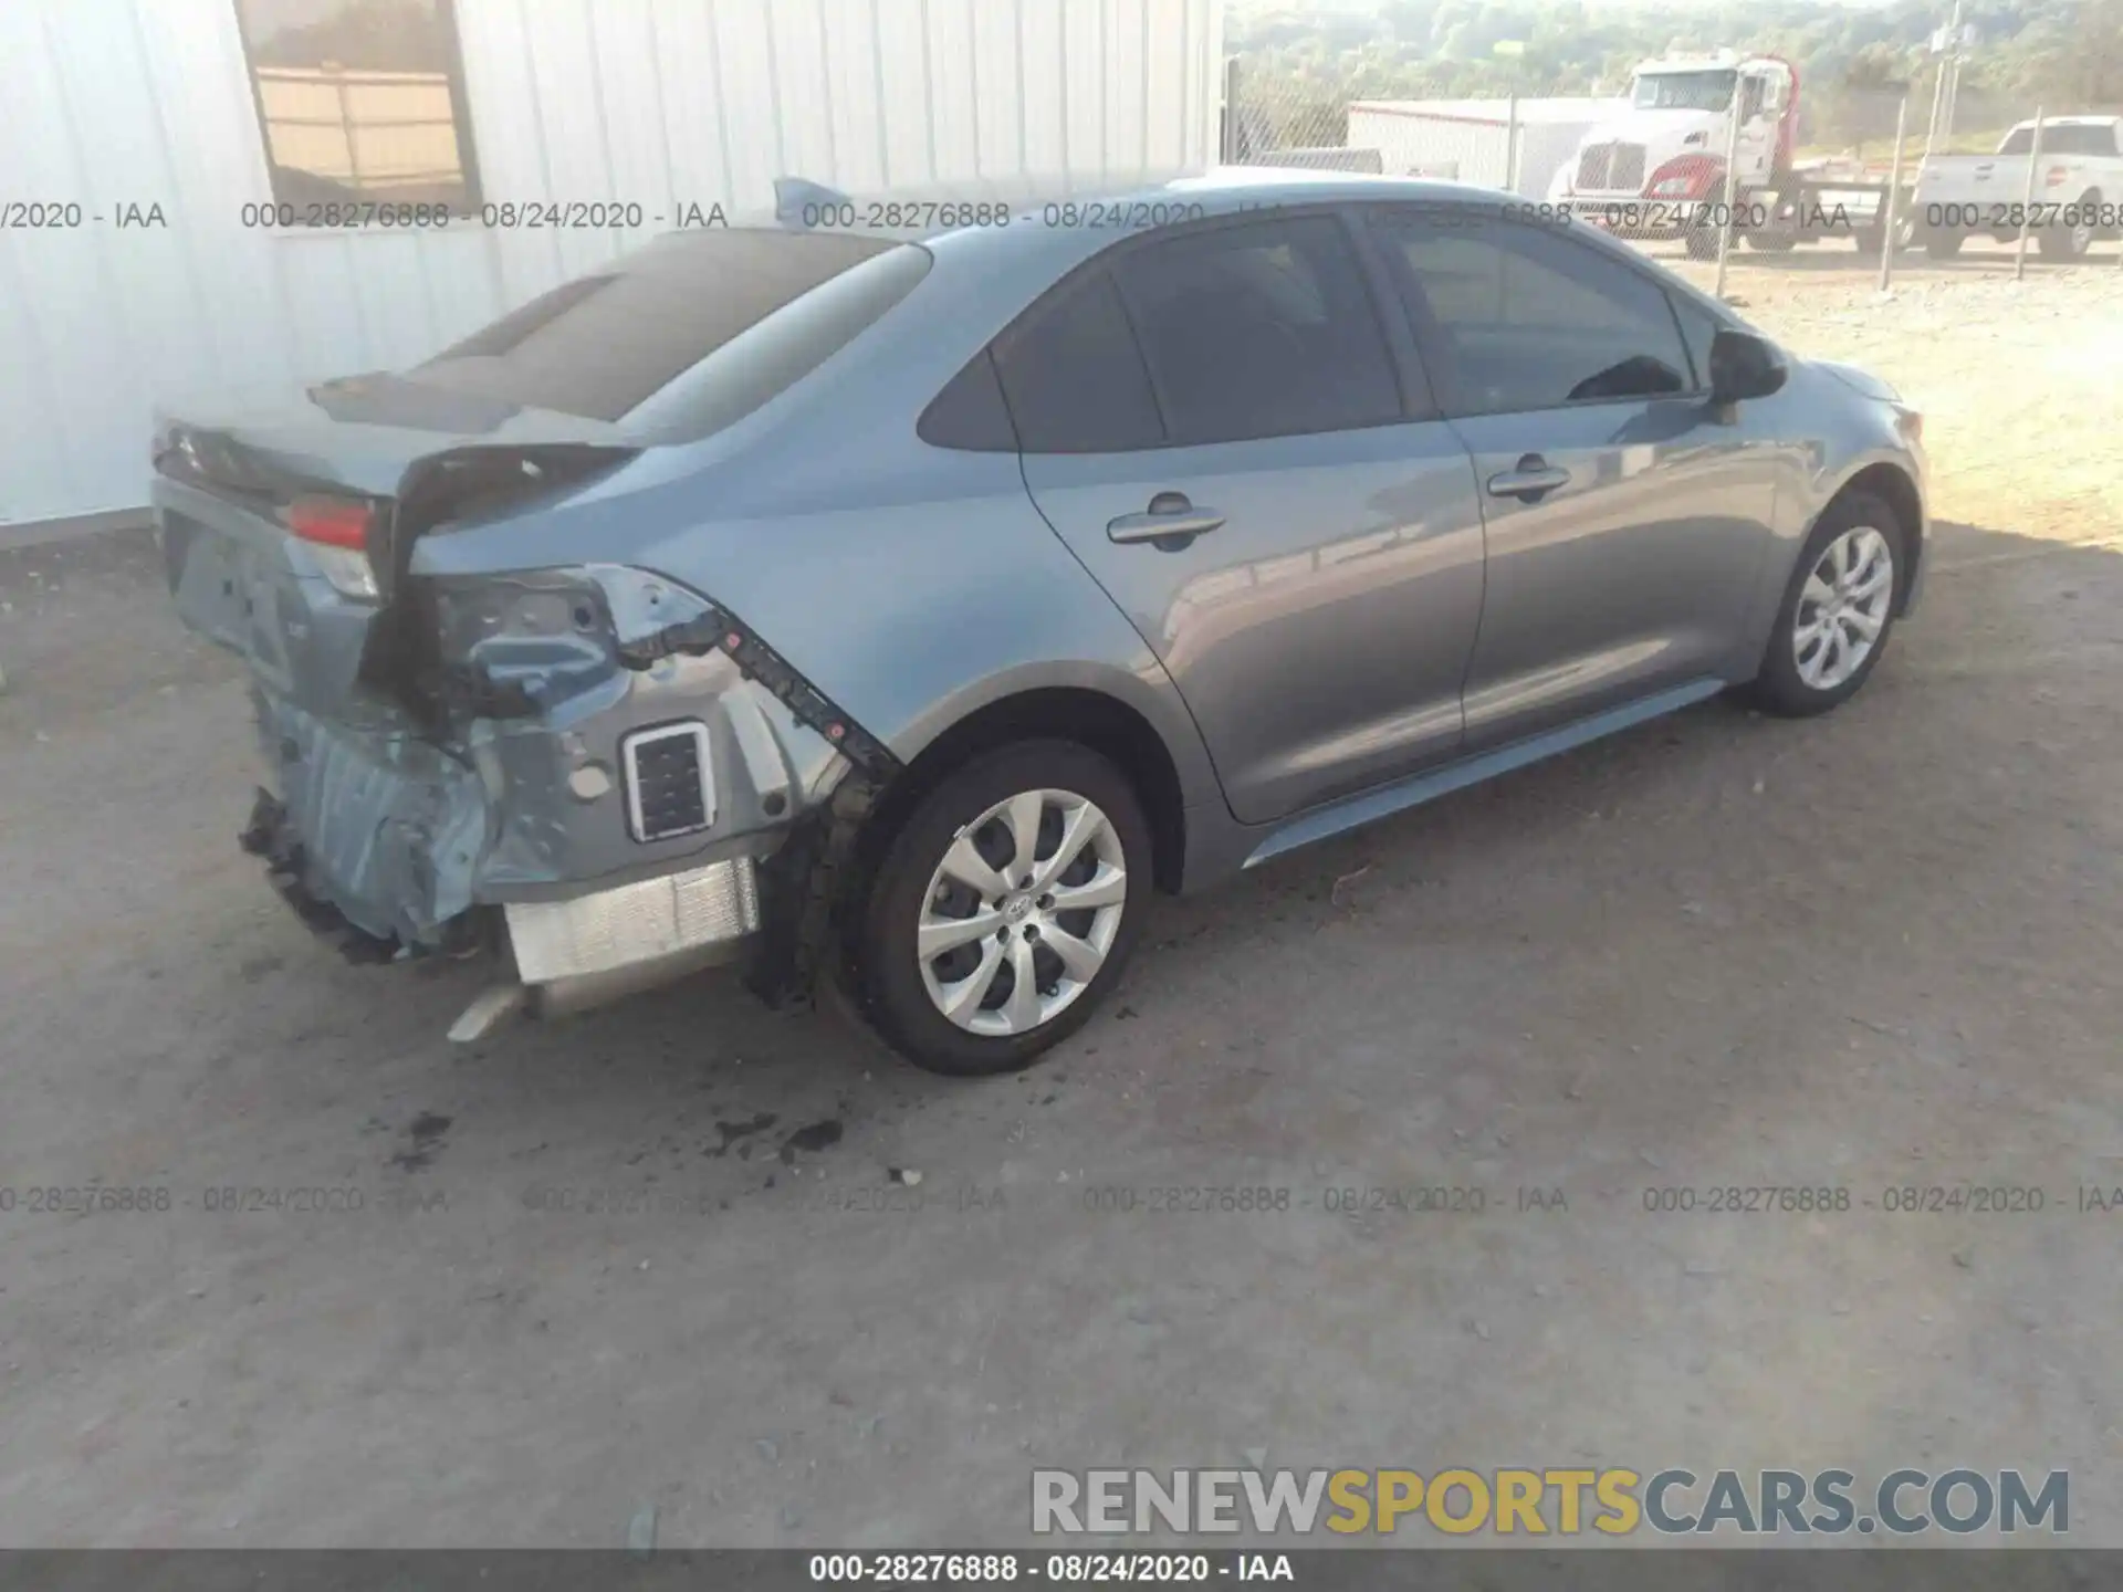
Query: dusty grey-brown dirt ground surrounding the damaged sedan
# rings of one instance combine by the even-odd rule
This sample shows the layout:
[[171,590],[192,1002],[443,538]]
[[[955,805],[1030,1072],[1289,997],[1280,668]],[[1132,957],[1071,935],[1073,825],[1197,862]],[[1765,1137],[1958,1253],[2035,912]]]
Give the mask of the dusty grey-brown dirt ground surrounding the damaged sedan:
[[[1870,688],[1163,904],[985,1085],[713,981],[450,1049],[465,970],[340,964],[238,855],[242,692],[146,539],[0,554],[0,1543],[996,1543],[1032,1465],[1263,1450],[2070,1469],[2123,1543],[2123,1214],[2076,1212],[2123,1184],[2123,272],[1734,291],[1930,414]],[[89,1182],[151,1208],[28,1210]],[[2047,1208],[1881,1208],[1957,1182]],[[1486,1210],[1327,1208],[1410,1184]],[[1146,1210],[1204,1187],[1284,1193]]]

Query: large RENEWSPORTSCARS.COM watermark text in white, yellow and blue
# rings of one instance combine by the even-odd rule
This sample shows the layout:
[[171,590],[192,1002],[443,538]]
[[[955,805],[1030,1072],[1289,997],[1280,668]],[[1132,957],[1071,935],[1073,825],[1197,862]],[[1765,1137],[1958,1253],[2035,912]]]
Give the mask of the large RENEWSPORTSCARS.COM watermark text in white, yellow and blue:
[[1839,1537],[2070,1530],[2070,1473],[1669,1467],[1422,1471],[1034,1471],[1032,1530],[1051,1535],[1318,1533],[1416,1537]]

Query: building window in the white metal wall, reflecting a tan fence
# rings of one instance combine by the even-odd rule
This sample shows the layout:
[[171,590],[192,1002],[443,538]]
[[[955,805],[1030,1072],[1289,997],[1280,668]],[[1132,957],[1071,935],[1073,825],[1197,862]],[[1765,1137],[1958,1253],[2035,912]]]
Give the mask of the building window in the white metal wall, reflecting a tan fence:
[[236,0],[236,17],[282,219],[478,208],[452,0]]

